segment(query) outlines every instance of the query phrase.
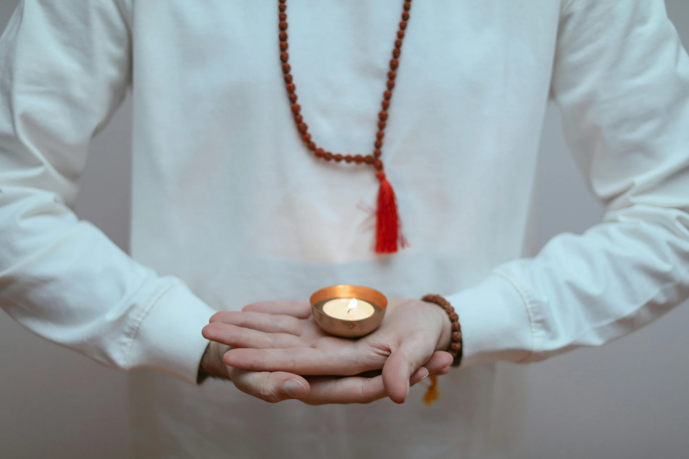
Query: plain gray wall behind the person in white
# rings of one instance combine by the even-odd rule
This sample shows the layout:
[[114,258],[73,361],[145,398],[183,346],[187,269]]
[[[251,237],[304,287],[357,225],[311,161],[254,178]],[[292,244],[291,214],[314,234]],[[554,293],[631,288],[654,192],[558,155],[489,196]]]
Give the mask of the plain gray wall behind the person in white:
[[[0,30],[18,0],[0,1]],[[689,1],[666,0],[689,47]],[[76,213],[129,244],[129,101],[93,142]],[[687,127],[689,129],[689,126]],[[537,247],[599,222],[549,107],[539,158]],[[528,367],[520,456],[689,458],[689,307],[598,349]],[[126,375],[27,332],[0,313],[0,457],[127,456]]]

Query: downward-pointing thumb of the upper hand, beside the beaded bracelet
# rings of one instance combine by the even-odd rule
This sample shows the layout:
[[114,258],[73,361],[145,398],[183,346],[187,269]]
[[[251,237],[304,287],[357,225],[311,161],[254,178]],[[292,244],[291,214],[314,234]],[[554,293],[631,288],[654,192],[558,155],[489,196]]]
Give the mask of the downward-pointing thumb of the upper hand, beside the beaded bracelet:
[[395,403],[404,403],[409,393],[409,378],[429,360],[433,349],[426,351],[422,343],[407,339],[402,341],[383,365],[383,385],[388,396]]

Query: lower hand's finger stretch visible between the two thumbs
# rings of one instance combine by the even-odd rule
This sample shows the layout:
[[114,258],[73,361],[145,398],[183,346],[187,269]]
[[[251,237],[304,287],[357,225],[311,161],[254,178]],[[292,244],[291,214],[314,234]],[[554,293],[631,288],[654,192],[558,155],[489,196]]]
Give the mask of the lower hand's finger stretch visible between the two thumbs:
[[301,401],[309,405],[326,403],[371,403],[387,396],[382,376],[362,378],[349,376],[337,378],[319,376],[309,378],[311,392]]

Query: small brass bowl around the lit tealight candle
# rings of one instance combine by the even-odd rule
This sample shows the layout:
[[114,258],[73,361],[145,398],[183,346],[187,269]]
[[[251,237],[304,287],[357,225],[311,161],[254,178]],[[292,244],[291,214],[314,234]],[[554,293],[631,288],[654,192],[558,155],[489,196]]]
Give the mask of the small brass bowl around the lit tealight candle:
[[[323,305],[336,298],[356,298],[368,301],[376,312],[366,319],[346,320],[336,319],[323,312]],[[313,319],[320,325],[320,328],[342,338],[363,337],[376,330],[385,316],[387,298],[378,290],[362,286],[331,286],[321,288],[311,295],[311,309]]]

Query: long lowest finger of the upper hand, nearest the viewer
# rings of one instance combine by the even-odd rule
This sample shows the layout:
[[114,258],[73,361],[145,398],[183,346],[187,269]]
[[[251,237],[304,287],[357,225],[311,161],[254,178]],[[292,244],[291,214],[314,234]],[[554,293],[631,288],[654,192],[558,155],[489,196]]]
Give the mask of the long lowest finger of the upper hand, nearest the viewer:
[[255,372],[340,376],[351,376],[382,366],[384,356],[360,350],[354,341],[333,338],[332,344],[327,345],[325,340],[320,341],[319,348],[233,349],[225,354],[225,363]]

